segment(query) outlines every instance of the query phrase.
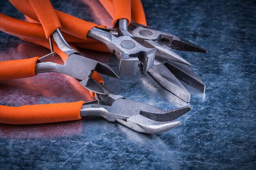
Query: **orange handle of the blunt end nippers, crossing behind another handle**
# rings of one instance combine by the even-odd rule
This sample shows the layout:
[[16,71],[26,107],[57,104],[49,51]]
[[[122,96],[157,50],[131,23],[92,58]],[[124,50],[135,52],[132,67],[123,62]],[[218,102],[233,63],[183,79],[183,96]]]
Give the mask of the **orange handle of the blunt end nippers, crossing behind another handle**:
[[[20,3],[20,0],[9,0],[9,1],[20,12],[27,15],[29,18],[32,18],[33,20],[39,21],[38,17],[36,16],[36,13],[34,12],[31,4],[29,3],[29,0],[22,0],[22,3]],[[87,22],[85,20],[81,20],[79,18],[76,18],[67,13],[63,13],[56,9],[55,9],[55,12],[62,26],[61,31],[81,39],[88,39],[86,38],[88,31],[98,26],[97,24],[94,24],[92,22]]]

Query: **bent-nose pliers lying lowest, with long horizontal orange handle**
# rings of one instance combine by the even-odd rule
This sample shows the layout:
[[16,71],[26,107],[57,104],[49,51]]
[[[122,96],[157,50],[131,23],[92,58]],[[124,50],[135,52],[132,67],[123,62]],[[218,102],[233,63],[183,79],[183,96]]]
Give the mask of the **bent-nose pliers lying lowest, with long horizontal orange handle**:
[[149,104],[132,102],[119,95],[95,95],[97,100],[59,104],[38,104],[19,107],[0,105],[0,123],[42,124],[78,120],[86,116],[100,116],[117,121],[138,132],[158,134],[181,124],[178,117],[189,106],[176,110],[162,110]]

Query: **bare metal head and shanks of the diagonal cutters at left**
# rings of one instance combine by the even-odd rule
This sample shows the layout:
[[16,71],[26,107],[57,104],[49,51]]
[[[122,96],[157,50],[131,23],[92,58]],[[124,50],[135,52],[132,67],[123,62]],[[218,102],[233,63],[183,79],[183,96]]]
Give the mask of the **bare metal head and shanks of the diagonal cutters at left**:
[[107,64],[84,57],[81,53],[73,49],[64,39],[61,31],[56,29],[52,36],[58,46],[67,57],[64,65],[54,62],[38,62],[35,73],[59,72],[76,78],[81,85],[88,90],[99,94],[110,94],[110,92],[91,76],[94,71],[103,75],[117,78],[116,73]]

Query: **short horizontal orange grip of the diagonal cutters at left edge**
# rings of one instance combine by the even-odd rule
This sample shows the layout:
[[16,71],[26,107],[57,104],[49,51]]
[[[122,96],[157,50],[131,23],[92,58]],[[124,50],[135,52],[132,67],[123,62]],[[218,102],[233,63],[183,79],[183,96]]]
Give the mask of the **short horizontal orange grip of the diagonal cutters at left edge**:
[[0,80],[20,79],[35,76],[36,61],[39,57],[0,62]]

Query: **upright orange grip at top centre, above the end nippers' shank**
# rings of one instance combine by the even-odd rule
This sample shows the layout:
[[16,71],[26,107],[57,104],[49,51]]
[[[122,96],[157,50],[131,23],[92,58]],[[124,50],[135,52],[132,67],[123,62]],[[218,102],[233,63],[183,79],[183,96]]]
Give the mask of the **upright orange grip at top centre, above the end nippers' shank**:
[[126,19],[128,24],[131,20],[131,1],[130,0],[113,0],[113,22],[117,20]]

